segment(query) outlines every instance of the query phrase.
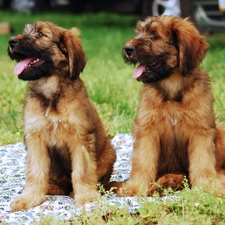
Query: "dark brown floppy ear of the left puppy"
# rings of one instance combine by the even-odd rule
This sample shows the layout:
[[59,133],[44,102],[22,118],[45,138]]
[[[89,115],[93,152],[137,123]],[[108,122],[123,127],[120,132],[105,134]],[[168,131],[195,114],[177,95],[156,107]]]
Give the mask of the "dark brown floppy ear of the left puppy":
[[68,56],[69,73],[72,79],[76,79],[86,65],[86,57],[78,38],[79,34],[80,31],[77,28],[65,30],[63,33],[62,44]]

